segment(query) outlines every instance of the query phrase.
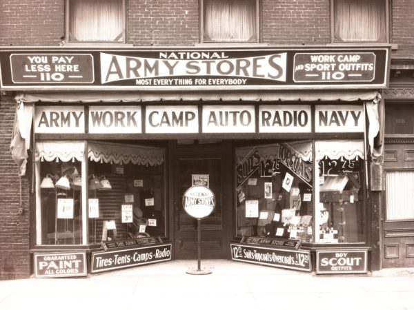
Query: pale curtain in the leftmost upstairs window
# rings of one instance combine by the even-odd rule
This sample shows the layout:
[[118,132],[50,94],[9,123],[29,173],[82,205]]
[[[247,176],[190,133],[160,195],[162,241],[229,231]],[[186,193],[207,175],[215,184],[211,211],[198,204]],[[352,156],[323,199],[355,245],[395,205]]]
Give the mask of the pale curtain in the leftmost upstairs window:
[[70,41],[124,41],[122,0],[70,0]]

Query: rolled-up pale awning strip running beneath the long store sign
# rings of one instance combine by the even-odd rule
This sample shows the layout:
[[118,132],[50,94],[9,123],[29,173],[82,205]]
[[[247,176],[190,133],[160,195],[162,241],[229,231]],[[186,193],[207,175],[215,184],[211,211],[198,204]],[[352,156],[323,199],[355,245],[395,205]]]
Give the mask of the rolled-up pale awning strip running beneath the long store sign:
[[149,101],[371,101],[376,90],[237,92],[47,92],[19,93],[23,103],[128,103]]

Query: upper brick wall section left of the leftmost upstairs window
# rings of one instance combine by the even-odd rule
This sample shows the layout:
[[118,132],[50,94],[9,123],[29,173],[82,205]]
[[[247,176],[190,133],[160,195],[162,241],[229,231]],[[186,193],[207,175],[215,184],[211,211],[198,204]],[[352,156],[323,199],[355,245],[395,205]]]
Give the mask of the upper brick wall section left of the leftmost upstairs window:
[[63,0],[1,0],[0,45],[59,45]]

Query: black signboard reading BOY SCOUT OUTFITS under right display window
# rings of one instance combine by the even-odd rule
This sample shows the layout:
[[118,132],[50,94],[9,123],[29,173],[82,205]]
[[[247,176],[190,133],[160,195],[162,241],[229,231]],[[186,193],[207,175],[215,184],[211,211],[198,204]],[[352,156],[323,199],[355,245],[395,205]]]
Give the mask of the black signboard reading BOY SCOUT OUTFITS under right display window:
[[366,273],[366,249],[316,251],[316,273]]

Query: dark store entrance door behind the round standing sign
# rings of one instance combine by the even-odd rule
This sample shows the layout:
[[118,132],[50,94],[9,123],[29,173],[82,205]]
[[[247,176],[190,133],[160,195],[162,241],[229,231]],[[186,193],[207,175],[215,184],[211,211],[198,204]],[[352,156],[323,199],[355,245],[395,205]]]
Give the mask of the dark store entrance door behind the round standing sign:
[[171,149],[175,259],[197,259],[197,220],[183,208],[192,185],[208,186],[216,198],[212,214],[201,219],[201,259],[228,258],[232,221],[230,143],[176,145]]

